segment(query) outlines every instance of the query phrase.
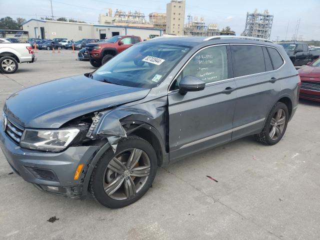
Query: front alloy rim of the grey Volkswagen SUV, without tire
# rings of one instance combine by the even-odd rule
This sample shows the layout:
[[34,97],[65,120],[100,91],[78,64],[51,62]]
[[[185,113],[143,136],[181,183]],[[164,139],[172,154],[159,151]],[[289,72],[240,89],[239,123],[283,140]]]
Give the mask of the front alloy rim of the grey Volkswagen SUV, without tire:
[[139,148],[130,148],[116,154],[103,174],[105,193],[116,200],[135,195],[146,183],[150,174],[150,159]]

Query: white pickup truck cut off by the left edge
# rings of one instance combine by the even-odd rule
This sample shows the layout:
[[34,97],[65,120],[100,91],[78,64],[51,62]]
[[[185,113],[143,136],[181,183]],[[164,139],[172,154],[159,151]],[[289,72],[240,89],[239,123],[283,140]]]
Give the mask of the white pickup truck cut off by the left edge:
[[0,38],[0,72],[14,73],[18,63],[34,61],[36,57],[30,43],[14,43]]

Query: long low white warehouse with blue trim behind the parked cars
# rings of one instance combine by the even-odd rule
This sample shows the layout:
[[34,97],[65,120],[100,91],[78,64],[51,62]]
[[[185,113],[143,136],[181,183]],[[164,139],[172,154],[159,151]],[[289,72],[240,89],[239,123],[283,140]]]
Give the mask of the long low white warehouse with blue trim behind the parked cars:
[[80,40],[82,38],[104,39],[114,35],[136,35],[142,40],[154,36],[161,36],[163,31],[157,28],[101,25],[79,22],[52,21],[30,19],[22,25],[24,31],[29,32],[29,38],[52,39],[65,37]]

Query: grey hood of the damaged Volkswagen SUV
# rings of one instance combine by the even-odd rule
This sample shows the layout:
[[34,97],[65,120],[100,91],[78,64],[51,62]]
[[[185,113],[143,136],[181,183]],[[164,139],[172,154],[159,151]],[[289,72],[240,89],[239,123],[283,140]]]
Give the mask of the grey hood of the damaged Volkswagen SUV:
[[7,98],[3,109],[23,127],[58,128],[83,114],[142,99],[149,91],[77,75],[20,90]]

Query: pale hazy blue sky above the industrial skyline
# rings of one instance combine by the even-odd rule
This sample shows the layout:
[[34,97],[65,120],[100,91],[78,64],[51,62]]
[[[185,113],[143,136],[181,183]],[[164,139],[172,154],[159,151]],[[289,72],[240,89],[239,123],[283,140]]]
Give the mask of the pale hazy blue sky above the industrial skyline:
[[[127,12],[139,10],[148,20],[150,12],[165,12],[169,0],[52,0],[55,17],[69,17],[98,23],[98,14],[107,8]],[[247,12],[268,9],[273,14],[270,39],[290,40],[298,19],[298,36],[303,40],[320,40],[320,0],[186,0],[185,22],[188,14],[204,17],[206,24],[215,23],[219,29],[230,26],[236,35],[244,30]],[[0,0],[0,18],[11,16],[25,19],[50,16],[50,0]]]

